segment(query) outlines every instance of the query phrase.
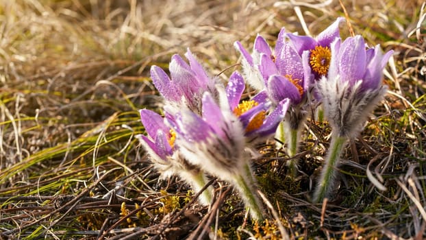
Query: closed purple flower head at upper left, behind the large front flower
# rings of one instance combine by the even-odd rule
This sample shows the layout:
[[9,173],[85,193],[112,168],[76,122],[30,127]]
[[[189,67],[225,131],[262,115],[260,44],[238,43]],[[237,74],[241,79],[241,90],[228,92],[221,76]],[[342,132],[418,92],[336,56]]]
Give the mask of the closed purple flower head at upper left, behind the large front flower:
[[215,80],[210,79],[201,64],[188,49],[185,53],[189,64],[179,55],[171,58],[168,70],[170,77],[158,66],[151,67],[151,78],[167,104],[178,110],[182,105],[191,110],[201,110],[201,96],[205,91],[214,94]]

